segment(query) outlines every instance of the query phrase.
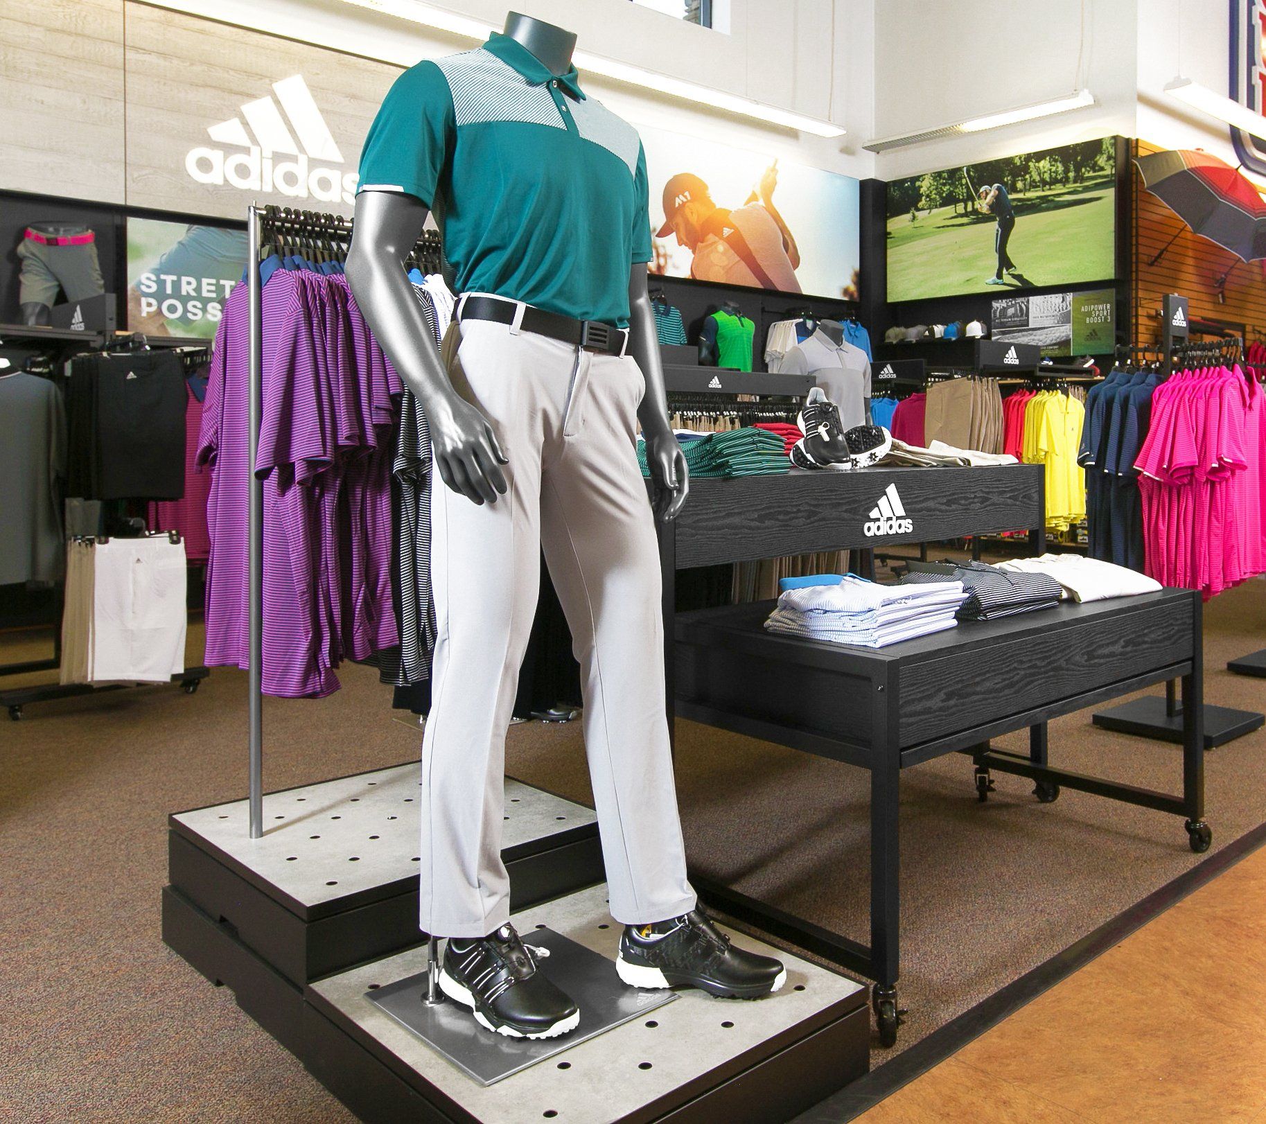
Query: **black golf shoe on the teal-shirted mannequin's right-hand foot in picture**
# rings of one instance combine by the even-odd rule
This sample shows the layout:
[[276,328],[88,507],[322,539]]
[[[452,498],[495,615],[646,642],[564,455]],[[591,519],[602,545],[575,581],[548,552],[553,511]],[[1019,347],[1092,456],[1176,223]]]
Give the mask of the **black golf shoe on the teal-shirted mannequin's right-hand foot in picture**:
[[698,909],[653,925],[625,925],[615,970],[630,987],[689,985],[723,999],[760,999],[787,978],[780,961],[736,948]]

